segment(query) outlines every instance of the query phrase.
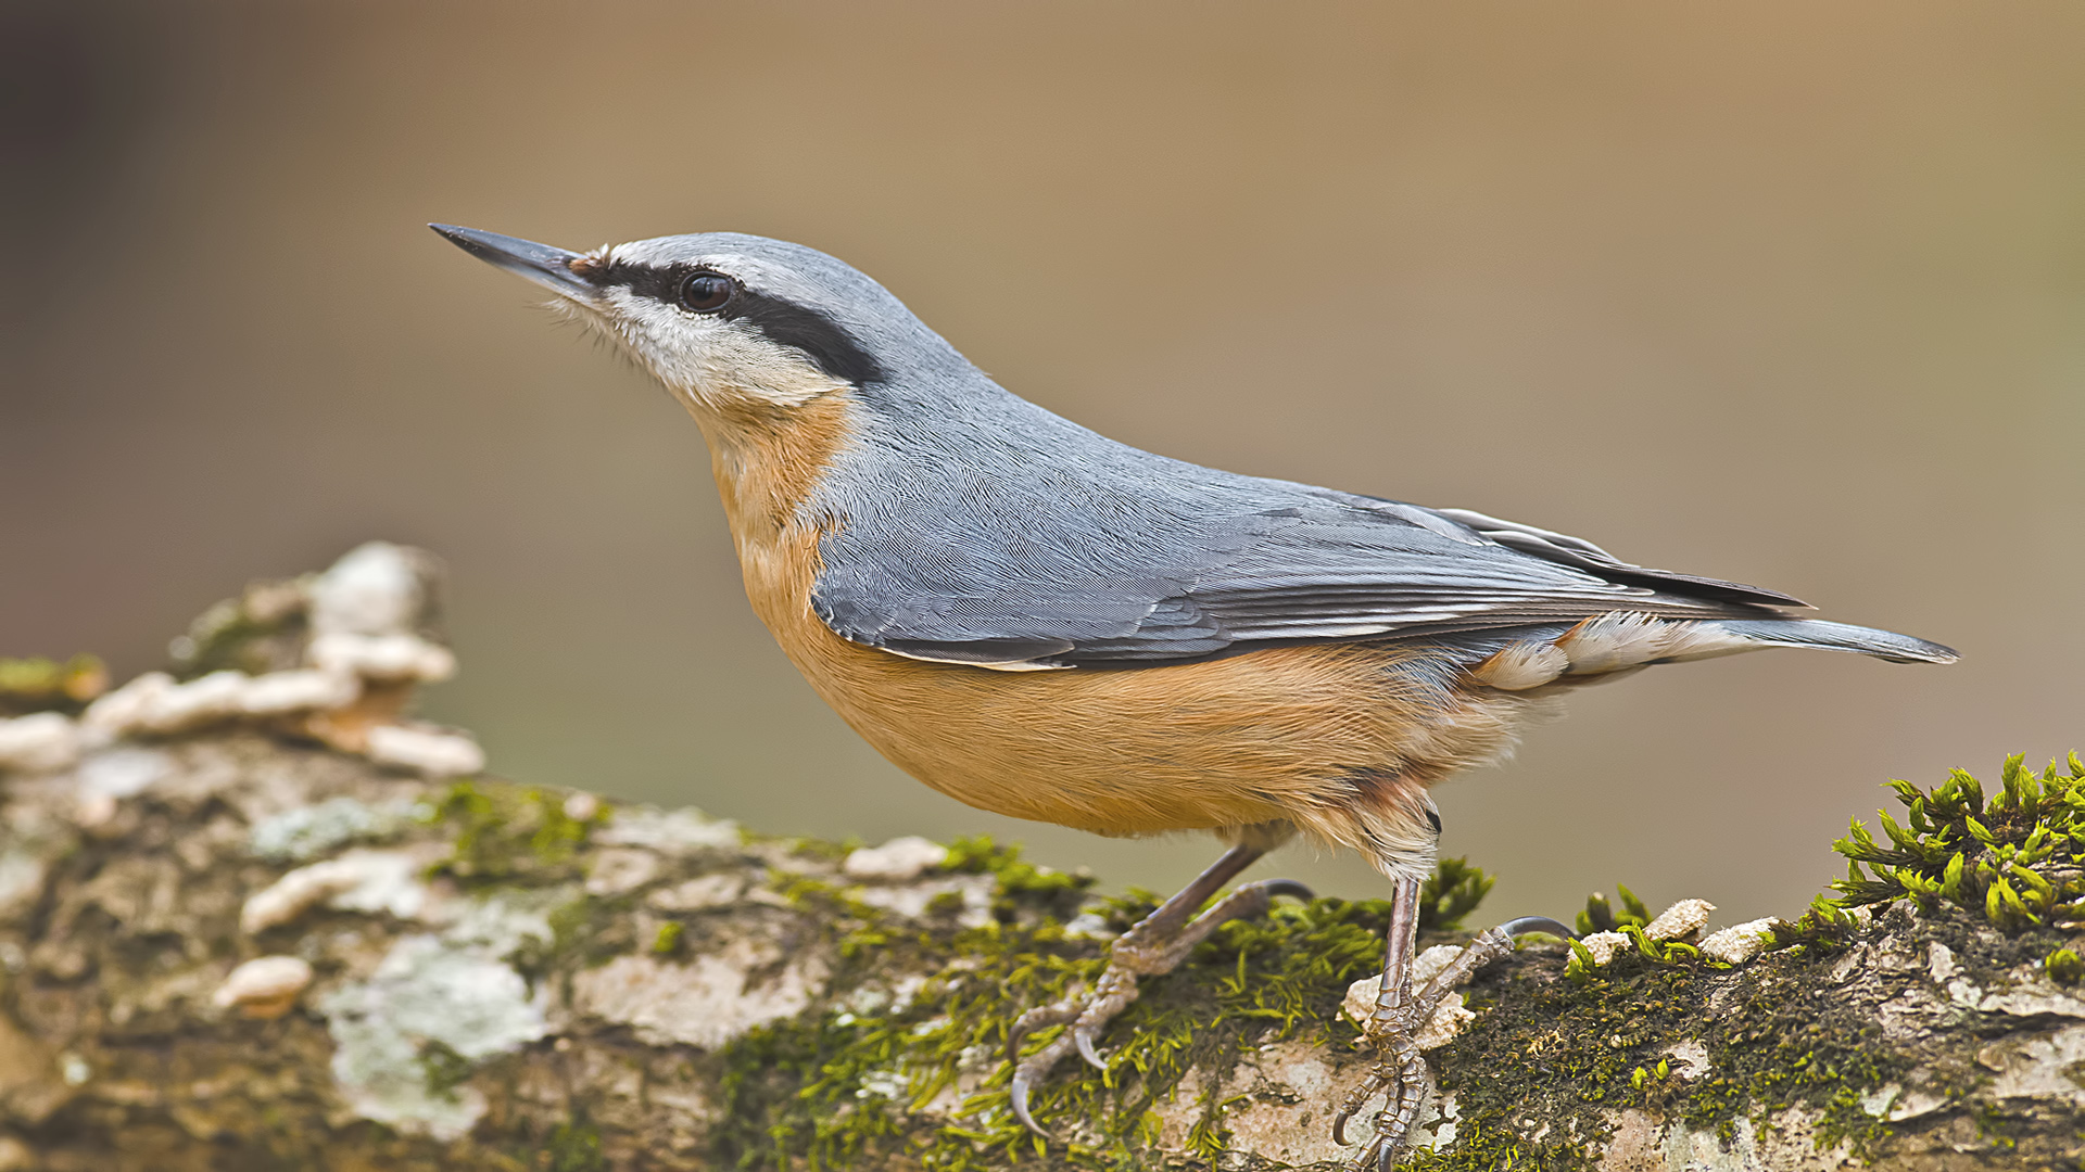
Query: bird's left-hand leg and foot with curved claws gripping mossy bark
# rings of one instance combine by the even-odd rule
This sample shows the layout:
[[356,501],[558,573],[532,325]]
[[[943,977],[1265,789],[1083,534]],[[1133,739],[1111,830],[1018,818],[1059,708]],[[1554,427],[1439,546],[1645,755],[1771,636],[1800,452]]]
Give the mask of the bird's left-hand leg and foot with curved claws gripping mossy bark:
[[1072,1049],[1078,1049],[1093,1066],[1107,1070],[1107,1061],[1101,1059],[1093,1043],[1115,1014],[1126,1009],[1130,1001],[1136,1001],[1136,978],[1172,972],[1195,951],[1195,945],[1209,938],[1209,932],[1216,932],[1226,920],[1264,915],[1276,895],[1311,899],[1311,890],[1295,880],[1261,880],[1241,886],[1216,901],[1201,915],[1195,915],[1211,895],[1222,890],[1226,882],[1253,865],[1264,853],[1261,847],[1232,847],[1224,851],[1224,857],[1195,876],[1195,882],[1180,888],[1157,911],[1145,915],[1134,928],[1115,938],[1107,951],[1107,970],[1101,972],[1093,988],[1051,1005],[1038,1005],[1013,1022],[1007,1034],[1007,1053],[1015,1059],[1020,1059],[1022,1041],[1030,1032],[1072,1022],[1070,1030],[1013,1068],[1011,1099],[1013,1114],[1022,1120],[1022,1126],[1045,1134],[1036,1126],[1034,1116],[1028,1114],[1028,1095]]

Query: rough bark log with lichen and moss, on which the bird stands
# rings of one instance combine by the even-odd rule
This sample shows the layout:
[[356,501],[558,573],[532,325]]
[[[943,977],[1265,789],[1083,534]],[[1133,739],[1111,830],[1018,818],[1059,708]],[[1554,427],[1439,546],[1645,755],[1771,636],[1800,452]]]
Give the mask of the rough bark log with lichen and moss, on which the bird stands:
[[[984,843],[847,851],[457,780],[438,740],[382,763],[377,728],[452,734],[404,722],[375,659],[313,663],[340,624],[323,588],[248,590],[188,667],[359,672],[354,697],[163,697],[13,757],[0,736],[0,1172],[1347,1155],[1330,1107],[1362,1055],[1339,1007],[1380,905],[1282,907],[1149,982],[1113,1072],[1065,1064],[1042,1097],[1045,1147],[1005,1105],[1005,1024],[1090,980],[1145,905]],[[409,601],[363,634],[425,638],[430,594]],[[1414,1162],[2079,1164],[2085,999],[2041,963],[2060,934],[1897,903],[1776,941],[1724,963],[1647,936],[1570,974],[1524,947],[1439,1022]]]

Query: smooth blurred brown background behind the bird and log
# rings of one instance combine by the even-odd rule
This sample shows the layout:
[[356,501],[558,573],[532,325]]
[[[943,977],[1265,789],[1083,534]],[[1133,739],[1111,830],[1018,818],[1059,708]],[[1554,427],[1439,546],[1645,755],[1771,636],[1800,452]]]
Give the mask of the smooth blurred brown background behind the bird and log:
[[2077,4],[54,2],[0,52],[0,653],[127,676],[407,540],[455,571],[432,715],[505,774],[1184,880],[1207,843],[857,742],[749,613],[694,425],[421,223],[742,229],[1122,440],[1964,651],[1580,694],[1439,795],[1495,915],[1793,911],[1885,778],[2085,744]]

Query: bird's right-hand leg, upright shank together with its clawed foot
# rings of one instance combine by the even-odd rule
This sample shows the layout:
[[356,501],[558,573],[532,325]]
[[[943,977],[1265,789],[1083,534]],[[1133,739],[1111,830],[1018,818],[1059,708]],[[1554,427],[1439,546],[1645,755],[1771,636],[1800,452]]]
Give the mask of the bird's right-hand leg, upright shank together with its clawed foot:
[[1376,993],[1376,1011],[1362,1032],[1376,1047],[1376,1061],[1359,1086],[1347,1093],[1332,1120],[1332,1143],[1347,1143],[1347,1120],[1364,1103],[1389,1091],[1382,1112],[1374,1118],[1374,1139],[1353,1162],[1353,1172],[1389,1172],[1397,1164],[1412,1124],[1418,1120],[1426,1097],[1426,1057],[1420,1055],[1418,1032],[1441,1007],[1457,984],[1470,980],[1476,970],[1514,951],[1514,936],[1522,932],[1551,932],[1570,936],[1572,930],[1541,915],[1510,920],[1497,928],[1487,928],[1464,945],[1462,953],[1447,963],[1426,988],[1412,988],[1412,953],[1418,947],[1420,930],[1420,880],[1399,878],[1391,888],[1391,930],[1382,949],[1382,988]]

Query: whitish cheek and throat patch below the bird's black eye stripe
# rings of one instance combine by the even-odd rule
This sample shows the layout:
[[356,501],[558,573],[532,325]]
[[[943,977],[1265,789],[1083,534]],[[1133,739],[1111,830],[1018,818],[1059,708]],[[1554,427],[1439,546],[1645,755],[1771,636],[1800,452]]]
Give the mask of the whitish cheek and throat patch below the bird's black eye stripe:
[[690,405],[799,407],[847,386],[751,323],[694,317],[628,288],[607,290],[603,302],[609,329]]

